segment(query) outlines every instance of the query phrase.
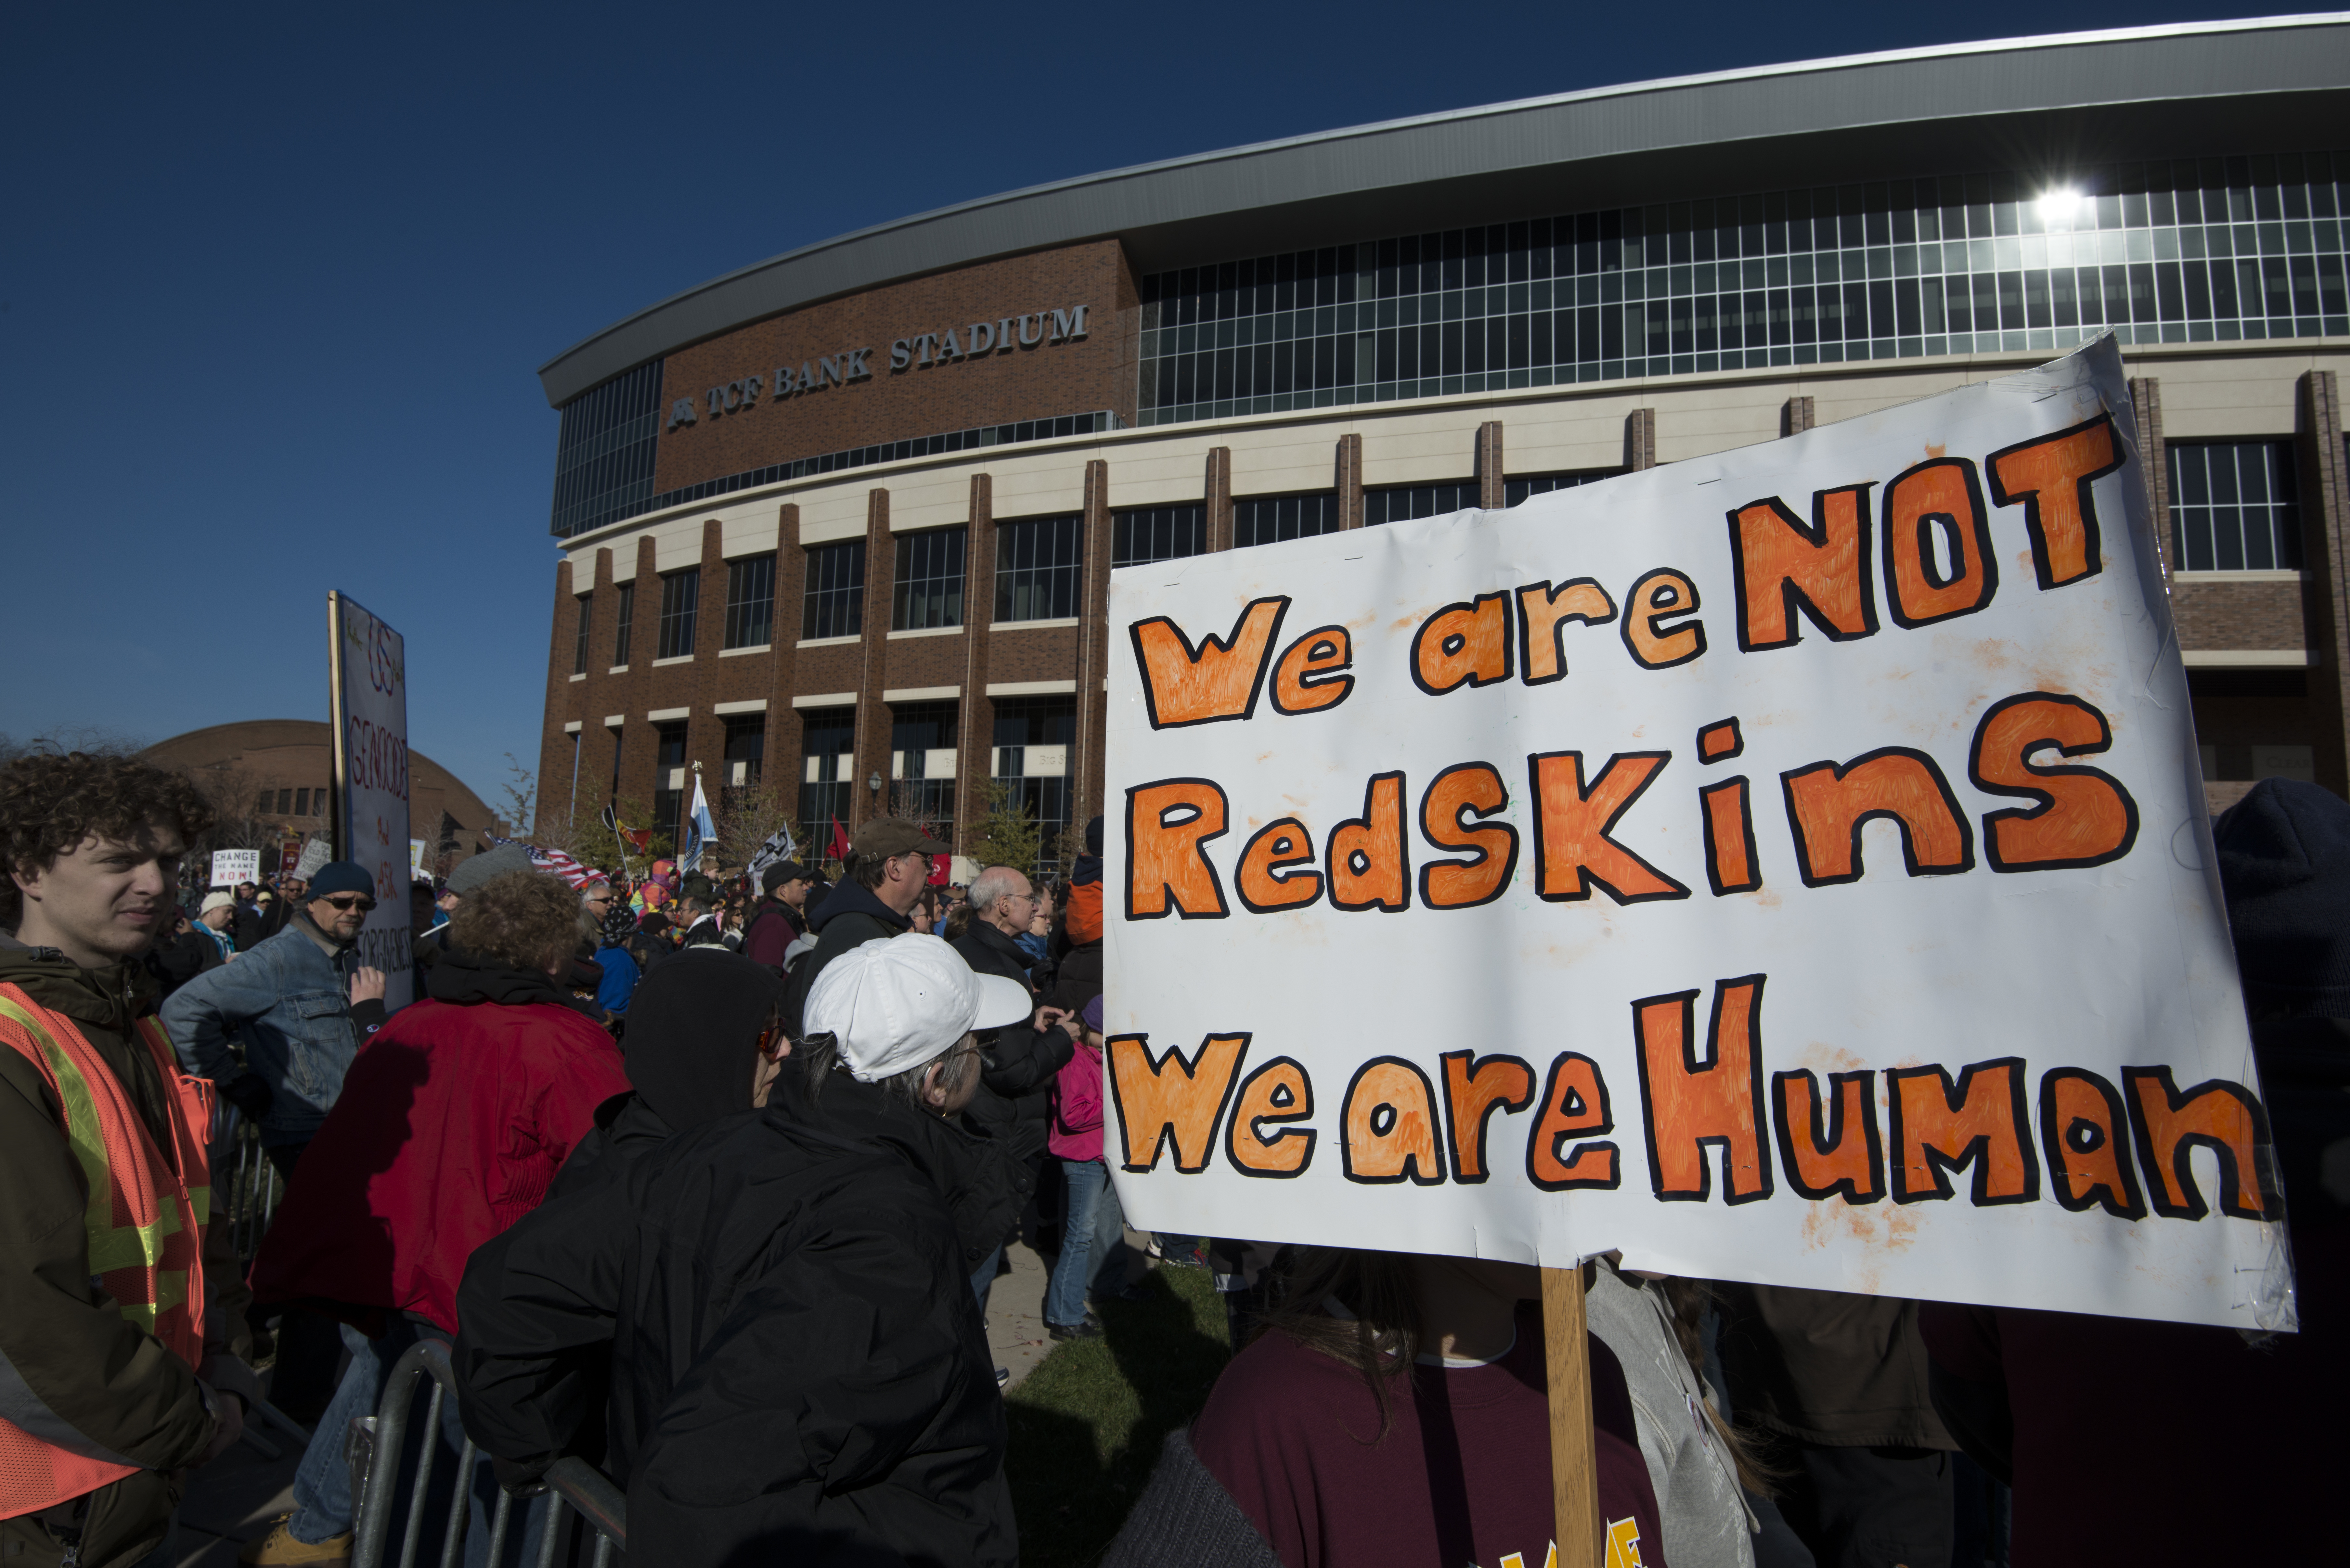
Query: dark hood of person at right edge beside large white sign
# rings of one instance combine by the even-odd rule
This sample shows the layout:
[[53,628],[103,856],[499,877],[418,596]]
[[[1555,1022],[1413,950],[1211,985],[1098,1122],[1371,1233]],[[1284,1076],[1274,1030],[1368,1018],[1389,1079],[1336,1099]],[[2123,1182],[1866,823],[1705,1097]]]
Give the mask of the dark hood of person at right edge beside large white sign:
[[2263,778],[2211,837],[2244,1001],[2256,1013],[2350,1018],[2350,804]]

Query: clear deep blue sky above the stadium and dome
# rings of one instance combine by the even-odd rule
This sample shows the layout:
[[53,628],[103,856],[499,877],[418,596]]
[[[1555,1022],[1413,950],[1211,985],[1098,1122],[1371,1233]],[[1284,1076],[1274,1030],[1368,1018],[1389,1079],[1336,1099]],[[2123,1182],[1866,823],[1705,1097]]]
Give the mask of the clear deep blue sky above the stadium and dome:
[[28,5],[0,52],[0,731],[324,719],[341,588],[407,632],[411,745],[496,799],[545,698],[533,371],[811,240],[1544,92],[2254,14]]

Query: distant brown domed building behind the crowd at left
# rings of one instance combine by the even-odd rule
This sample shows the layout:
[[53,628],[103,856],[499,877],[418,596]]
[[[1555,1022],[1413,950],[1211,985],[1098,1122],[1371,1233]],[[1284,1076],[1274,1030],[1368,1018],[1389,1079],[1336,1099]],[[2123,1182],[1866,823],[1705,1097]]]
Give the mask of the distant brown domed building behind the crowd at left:
[[[263,875],[275,872],[287,839],[331,832],[334,731],[317,719],[244,719],[212,724],[157,741],[141,752],[148,762],[195,773],[214,799],[235,799],[251,811],[263,844]],[[451,865],[486,849],[482,832],[503,832],[482,797],[423,752],[409,752],[409,837],[425,842],[425,865],[446,875]]]

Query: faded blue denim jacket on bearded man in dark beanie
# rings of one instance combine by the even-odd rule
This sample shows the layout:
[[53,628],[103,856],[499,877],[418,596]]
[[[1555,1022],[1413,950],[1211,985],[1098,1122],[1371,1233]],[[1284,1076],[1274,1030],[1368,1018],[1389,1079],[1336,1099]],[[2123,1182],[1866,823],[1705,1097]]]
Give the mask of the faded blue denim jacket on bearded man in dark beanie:
[[343,1072],[360,1053],[350,1023],[352,950],[327,957],[296,914],[235,964],[207,969],[162,1009],[162,1027],[188,1072],[214,1084],[235,1079],[230,1039],[244,1041],[244,1070],[270,1086],[261,1143],[308,1143],[343,1093]]

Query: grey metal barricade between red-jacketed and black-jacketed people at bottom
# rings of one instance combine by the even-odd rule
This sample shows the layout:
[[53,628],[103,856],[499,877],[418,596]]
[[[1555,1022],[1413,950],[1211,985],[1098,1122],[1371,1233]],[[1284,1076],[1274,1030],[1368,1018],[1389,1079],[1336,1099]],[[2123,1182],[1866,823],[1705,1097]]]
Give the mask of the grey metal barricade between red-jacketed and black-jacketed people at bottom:
[[[407,1505],[407,1521],[400,1533],[400,1568],[416,1568],[416,1547],[425,1537],[425,1502],[432,1488],[432,1462],[439,1458],[442,1401],[456,1396],[456,1368],[449,1363],[449,1347],[439,1340],[421,1340],[392,1363],[383,1380],[383,1396],[376,1413],[352,1418],[345,1458],[350,1462],[350,1495],[357,1502],[357,1523],[350,1542],[352,1568],[383,1568],[390,1552],[392,1500],[400,1490],[400,1460],[407,1453],[416,1394],[430,1375],[432,1396],[425,1401],[425,1436],[416,1460],[416,1476]],[[472,1507],[472,1467],[477,1448],[465,1439],[456,1460],[456,1488],[449,1519],[439,1523],[437,1568],[461,1568],[465,1561],[465,1526]],[[522,1497],[545,1493],[550,1507],[538,1535],[538,1547],[529,1556],[536,1568],[552,1568],[557,1542],[564,1535],[564,1514],[573,1514],[595,1530],[592,1568],[611,1568],[613,1554],[627,1549],[627,1497],[585,1460],[557,1460],[548,1467],[540,1486]],[[489,1521],[489,1561],[496,1566],[505,1556],[505,1530],[512,1523],[517,1493],[498,1490],[498,1507]]]

